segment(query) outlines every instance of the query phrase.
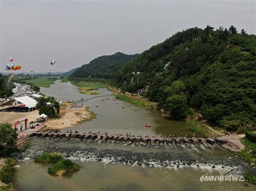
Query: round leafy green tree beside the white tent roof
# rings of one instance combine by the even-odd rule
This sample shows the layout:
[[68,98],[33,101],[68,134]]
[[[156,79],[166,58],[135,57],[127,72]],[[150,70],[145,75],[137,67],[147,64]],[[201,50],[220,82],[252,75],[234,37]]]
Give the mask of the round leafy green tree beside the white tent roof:
[[54,97],[40,97],[36,107],[40,115],[45,114],[48,117],[57,117],[59,115],[59,103]]

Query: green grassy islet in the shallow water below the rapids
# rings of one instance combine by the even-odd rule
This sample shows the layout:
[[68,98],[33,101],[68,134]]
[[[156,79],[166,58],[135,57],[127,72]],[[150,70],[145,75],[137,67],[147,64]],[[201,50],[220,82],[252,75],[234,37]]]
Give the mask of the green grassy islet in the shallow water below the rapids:
[[48,168],[48,173],[53,175],[63,175],[65,172],[74,172],[80,169],[80,166],[75,162],[64,159],[58,153],[43,153],[35,157],[35,162],[38,163],[53,163],[52,167]]

